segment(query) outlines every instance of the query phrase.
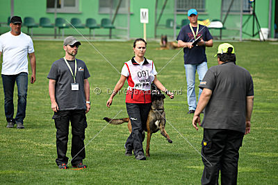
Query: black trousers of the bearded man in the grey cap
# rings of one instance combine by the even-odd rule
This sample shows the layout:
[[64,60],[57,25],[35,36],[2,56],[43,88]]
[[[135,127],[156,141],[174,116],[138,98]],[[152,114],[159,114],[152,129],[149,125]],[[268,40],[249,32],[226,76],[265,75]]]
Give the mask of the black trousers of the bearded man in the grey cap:
[[[56,126],[56,164],[67,164],[67,141],[69,125],[72,125],[72,152],[74,157],[83,147],[85,139],[85,128],[87,127],[85,110],[64,110],[54,112],[53,119]],[[78,164],[85,159],[85,148],[72,160],[72,164]]]

